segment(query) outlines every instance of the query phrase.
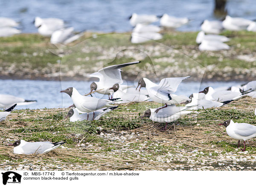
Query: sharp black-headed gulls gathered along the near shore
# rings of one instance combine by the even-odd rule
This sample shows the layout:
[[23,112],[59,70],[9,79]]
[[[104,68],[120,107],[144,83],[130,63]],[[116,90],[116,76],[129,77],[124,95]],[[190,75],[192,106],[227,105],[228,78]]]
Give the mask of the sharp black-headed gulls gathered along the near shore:
[[[91,77],[99,78],[90,84],[90,93],[82,95],[75,87],[68,87],[61,90],[61,93],[66,93],[73,101],[74,107],[67,113],[70,122],[84,121],[84,120],[98,120],[105,113],[110,112],[122,105],[120,103],[128,102],[145,102],[154,101],[162,104],[159,108],[149,108],[145,110],[143,116],[140,118],[149,118],[153,122],[165,122],[166,125],[163,130],[167,129],[169,122],[179,119],[181,116],[196,112],[198,109],[218,108],[226,105],[234,100],[238,100],[243,96],[256,95],[256,81],[250,81],[247,84],[232,87],[221,87],[213,89],[206,87],[199,93],[192,93],[187,97],[184,95],[177,95],[175,92],[179,84],[189,78],[175,77],[163,78],[159,83],[154,83],[148,78],[140,78],[137,87],[126,84],[122,80],[121,68],[130,65],[139,64],[140,61],[129,62],[125,64],[118,64],[105,67],[96,73],[91,74]],[[108,95],[109,99],[99,99],[92,96],[92,93],[99,93]],[[25,100],[11,95],[0,95],[0,107],[8,108],[0,112],[0,122],[6,119],[16,105],[26,105],[35,103],[36,101]],[[177,106],[185,104],[185,106]],[[245,141],[252,137],[256,137],[256,126],[248,123],[234,123],[232,120],[227,120],[220,125],[226,127],[227,134],[234,138]],[[61,142],[26,142],[22,139],[15,141],[13,144],[15,154],[42,154],[48,152],[59,145]]]

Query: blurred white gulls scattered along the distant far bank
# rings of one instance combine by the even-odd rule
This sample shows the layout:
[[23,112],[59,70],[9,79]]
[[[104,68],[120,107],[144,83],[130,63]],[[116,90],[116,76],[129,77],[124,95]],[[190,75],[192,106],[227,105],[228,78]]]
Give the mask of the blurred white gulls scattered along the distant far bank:
[[[138,15],[133,13],[129,17],[131,26],[134,27],[131,33],[131,43],[139,44],[151,40],[159,40],[163,38],[163,29],[176,29],[189,23],[191,20],[187,17],[174,17],[168,14],[157,15]],[[159,21],[159,26],[153,25]],[[16,29],[19,23],[7,17],[0,17],[0,37],[7,37],[19,34],[21,31]],[[59,18],[41,18],[35,17],[34,25],[38,29],[38,33],[51,37],[52,44],[68,44],[83,35],[83,32],[75,34],[74,27],[67,27],[64,20]],[[224,42],[229,38],[218,35],[224,29],[231,31],[247,30],[256,32],[256,22],[247,20],[242,17],[230,17],[227,15],[223,21],[221,20],[204,20],[201,24],[201,32],[198,33],[196,42],[199,50],[218,51],[230,49],[230,46]]]

